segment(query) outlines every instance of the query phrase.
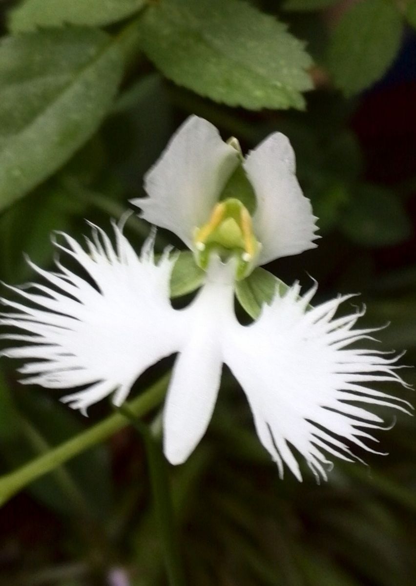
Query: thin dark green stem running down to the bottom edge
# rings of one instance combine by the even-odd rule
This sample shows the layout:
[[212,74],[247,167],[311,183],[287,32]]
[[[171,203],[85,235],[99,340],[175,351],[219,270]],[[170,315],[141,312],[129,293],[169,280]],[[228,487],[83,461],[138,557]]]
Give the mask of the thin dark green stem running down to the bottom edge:
[[141,434],[148,459],[149,476],[154,498],[156,520],[159,525],[163,556],[170,586],[185,586],[179,553],[178,530],[176,527],[166,461],[162,455],[159,442],[156,441],[151,428],[137,420],[136,415],[127,406],[120,407],[121,413],[129,417],[132,424]]

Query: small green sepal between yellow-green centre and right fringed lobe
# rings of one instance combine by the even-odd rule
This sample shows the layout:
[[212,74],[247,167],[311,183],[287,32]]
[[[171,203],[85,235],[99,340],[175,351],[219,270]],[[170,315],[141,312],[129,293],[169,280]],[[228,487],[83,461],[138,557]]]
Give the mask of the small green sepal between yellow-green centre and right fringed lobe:
[[258,267],[243,281],[237,281],[236,297],[248,315],[257,319],[262,306],[270,303],[276,293],[282,295],[288,288],[288,285],[271,272]]

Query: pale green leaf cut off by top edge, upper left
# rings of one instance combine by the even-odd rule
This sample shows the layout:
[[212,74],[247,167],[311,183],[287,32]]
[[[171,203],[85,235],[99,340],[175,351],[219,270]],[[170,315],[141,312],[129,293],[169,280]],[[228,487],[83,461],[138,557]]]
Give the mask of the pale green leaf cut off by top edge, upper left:
[[39,26],[103,26],[121,21],[145,5],[146,0],[26,0],[9,14],[12,32]]

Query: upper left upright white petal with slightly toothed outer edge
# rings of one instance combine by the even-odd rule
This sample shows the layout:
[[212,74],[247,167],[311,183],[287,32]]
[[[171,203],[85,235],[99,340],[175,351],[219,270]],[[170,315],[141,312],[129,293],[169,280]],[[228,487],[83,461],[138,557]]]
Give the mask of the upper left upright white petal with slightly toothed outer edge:
[[193,229],[207,222],[237,164],[236,149],[223,142],[216,127],[191,116],[146,174],[149,197],[131,203],[141,207],[145,220],[192,248]]

